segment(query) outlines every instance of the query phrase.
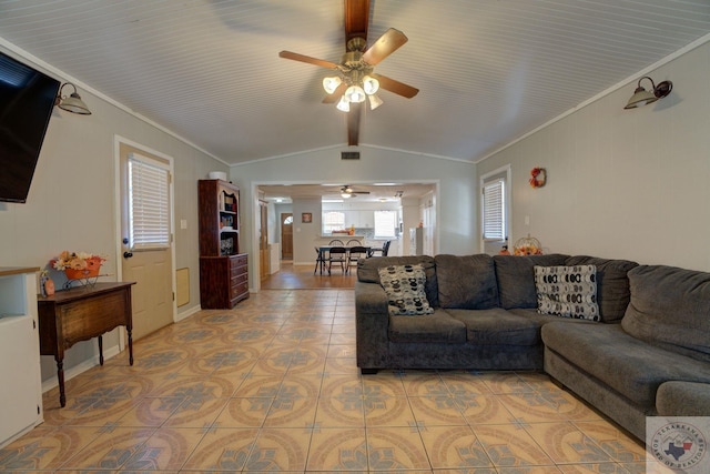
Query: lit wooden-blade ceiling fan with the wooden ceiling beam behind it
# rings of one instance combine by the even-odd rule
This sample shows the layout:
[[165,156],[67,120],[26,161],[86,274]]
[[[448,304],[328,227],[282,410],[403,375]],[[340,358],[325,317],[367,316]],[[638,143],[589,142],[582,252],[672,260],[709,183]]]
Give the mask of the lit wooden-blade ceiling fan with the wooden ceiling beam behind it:
[[375,65],[408,41],[399,30],[388,29],[369,48],[367,26],[369,23],[369,0],[345,0],[345,48],[341,62],[335,63],[291,51],[281,51],[281,58],[306,62],[333,70],[336,75],[323,80],[328,93],[324,103],[338,101],[337,108],[347,113],[347,144],[356,145],[363,102],[369,101],[371,109],[382,104],[376,95],[378,89],[410,99],[419,90],[386,75],[373,72]]

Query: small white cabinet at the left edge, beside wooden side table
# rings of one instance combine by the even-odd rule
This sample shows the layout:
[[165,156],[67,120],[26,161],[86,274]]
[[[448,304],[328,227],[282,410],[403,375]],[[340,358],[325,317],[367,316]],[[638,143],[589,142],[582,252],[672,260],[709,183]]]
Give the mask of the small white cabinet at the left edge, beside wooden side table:
[[0,447],[42,422],[38,270],[0,268]]

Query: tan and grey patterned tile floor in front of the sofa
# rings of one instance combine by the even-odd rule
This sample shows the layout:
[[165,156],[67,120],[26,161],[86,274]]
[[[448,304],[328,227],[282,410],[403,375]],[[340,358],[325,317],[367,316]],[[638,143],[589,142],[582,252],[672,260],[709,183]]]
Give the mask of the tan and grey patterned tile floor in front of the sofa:
[[640,444],[538,373],[355,366],[353,290],[267,290],[44,395],[0,472],[642,473]]

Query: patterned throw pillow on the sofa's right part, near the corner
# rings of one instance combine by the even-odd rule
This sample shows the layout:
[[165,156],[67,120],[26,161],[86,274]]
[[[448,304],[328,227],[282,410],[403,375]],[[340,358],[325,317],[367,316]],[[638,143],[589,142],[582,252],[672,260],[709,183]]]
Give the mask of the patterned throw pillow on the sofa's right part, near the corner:
[[595,265],[535,266],[537,312],[599,321]]

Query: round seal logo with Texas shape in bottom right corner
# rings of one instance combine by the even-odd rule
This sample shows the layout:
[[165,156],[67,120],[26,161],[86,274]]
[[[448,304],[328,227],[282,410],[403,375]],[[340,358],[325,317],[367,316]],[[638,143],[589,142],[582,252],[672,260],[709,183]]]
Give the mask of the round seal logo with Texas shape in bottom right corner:
[[663,465],[688,472],[703,461],[708,446],[702,430],[687,422],[672,422],[651,435],[649,448]]

